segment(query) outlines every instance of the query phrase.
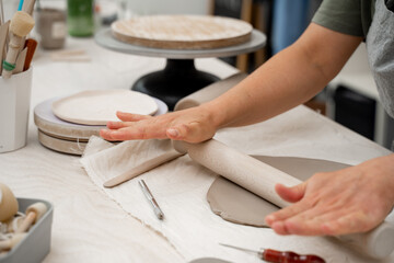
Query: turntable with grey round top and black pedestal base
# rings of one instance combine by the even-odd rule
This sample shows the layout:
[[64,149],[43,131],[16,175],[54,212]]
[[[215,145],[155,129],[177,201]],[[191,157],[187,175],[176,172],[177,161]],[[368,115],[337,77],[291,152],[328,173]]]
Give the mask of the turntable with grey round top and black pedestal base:
[[163,70],[142,76],[131,89],[164,101],[172,111],[182,98],[219,80],[211,73],[197,70],[195,58],[231,57],[255,52],[265,46],[266,36],[253,30],[250,39],[241,44],[206,49],[174,49],[125,43],[116,39],[111,28],[105,28],[95,34],[95,41],[99,45],[119,53],[166,58]]

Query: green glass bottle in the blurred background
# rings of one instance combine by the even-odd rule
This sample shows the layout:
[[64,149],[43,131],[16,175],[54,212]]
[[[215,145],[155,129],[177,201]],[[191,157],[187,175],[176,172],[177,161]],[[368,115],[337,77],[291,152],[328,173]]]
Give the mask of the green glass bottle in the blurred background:
[[71,36],[91,36],[94,33],[94,1],[67,0],[67,27]]

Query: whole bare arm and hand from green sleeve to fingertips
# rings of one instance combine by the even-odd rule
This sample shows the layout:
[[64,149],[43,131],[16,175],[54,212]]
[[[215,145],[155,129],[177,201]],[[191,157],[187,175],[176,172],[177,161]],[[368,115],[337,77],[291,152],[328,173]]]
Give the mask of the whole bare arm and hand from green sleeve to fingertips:
[[123,121],[101,130],[107,140],[170,138],[199,142],[217,129],[262,122],[315,95],[361,42],[311,24],[294,45],[275,56],[218,99],[158,117],[118,113]]

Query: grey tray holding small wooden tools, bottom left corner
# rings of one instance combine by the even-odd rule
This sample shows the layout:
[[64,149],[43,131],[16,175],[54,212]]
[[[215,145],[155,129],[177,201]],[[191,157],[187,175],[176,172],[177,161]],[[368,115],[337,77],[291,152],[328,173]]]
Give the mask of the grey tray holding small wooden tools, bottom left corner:
[[7,254],[0,255],[0,263],[39,263],[43,262],[49,253],[54,217],[53,205],[42,199],[18,198],[20,211],[25,211],[28,206],[37,202],[42,202],[47,206],[47,213],[31,227],[27,236],[22,239],[20,243],[12,248]]

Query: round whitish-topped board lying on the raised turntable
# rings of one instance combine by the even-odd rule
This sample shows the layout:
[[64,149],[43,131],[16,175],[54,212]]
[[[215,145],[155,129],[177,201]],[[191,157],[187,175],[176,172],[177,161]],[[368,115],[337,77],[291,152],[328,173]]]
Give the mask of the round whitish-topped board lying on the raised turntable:
[[207,49],[251,38],[251,24],[209,15],[146,15],[112,24],[115,38],[134,45],[170,49]]

